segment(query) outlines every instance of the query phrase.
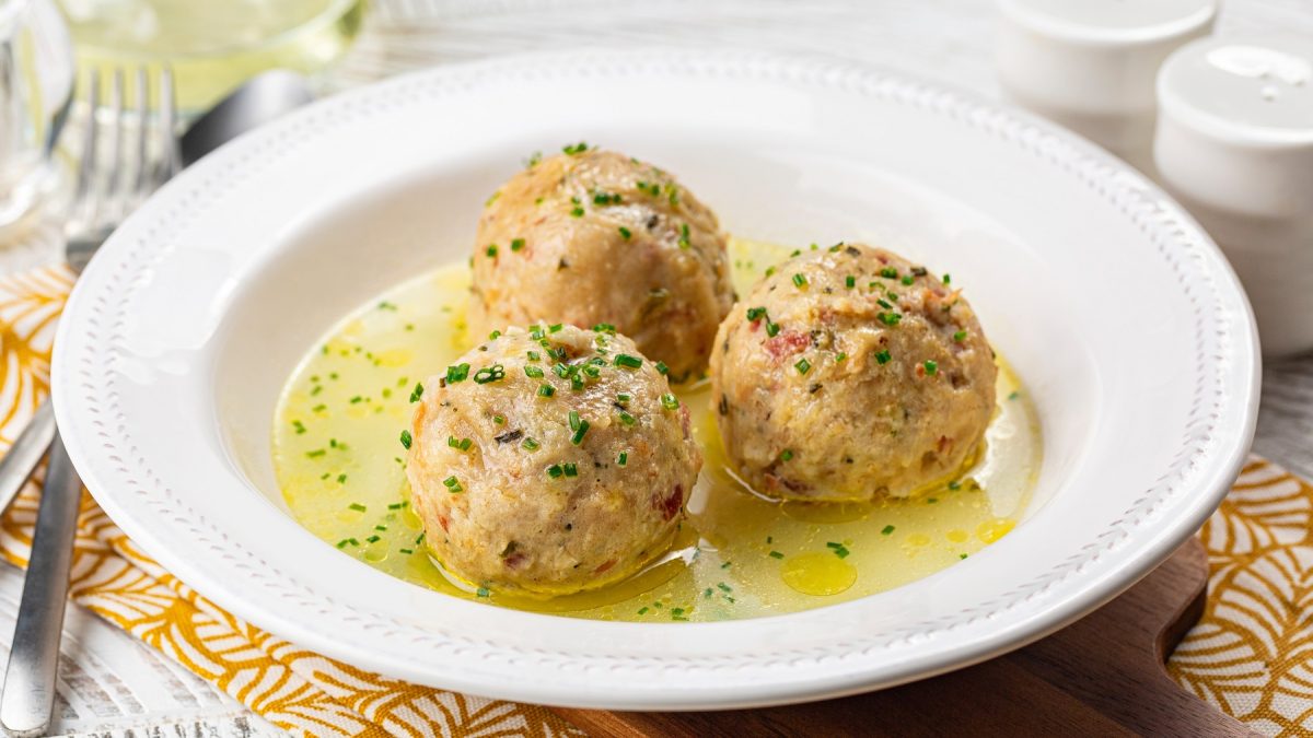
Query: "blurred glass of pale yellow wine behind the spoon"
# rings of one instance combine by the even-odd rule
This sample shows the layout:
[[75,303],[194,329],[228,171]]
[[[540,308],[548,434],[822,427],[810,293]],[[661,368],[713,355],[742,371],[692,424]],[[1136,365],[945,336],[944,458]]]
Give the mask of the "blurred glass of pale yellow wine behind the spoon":
[[[168,64],[184,116],[270,68],[314,75],[360,33],[365,0],[59,0],[85,72]],[[158,70],[152,70],[158,71]],[[131,77],[131,75],[130,75]],[[129,95],[131,97],[131,95]]]

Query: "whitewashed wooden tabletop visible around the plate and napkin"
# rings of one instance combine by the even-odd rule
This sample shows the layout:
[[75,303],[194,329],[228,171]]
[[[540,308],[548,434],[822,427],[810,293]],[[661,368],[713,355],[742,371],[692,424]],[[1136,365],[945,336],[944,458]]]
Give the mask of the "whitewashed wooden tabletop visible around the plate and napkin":
[[[376,0],[373,9],[355,50],[326,77],[330,89],[520,51],[676,46],[842,56],[998,96],[991,0]],[[1218,33],[1276,30],[1313,43],[1313,0],[1225,1]],[[59,250],[50,226],[0,251],[0,272],[58,259]],[[1313,356],[1264,369],[1254,449],[1313,477]],[[0,632],[13,629],[21,583],[20,571],[0,567]],[[66,630],[59,733],[278,734],[87,613],[71,613]]]

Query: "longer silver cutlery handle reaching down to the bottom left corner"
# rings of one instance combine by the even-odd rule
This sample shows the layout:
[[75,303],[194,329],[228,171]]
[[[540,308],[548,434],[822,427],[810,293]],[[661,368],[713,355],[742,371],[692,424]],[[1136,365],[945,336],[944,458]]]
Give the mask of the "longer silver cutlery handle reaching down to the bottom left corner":
[[80,503],[81,479],[56,433],[0,692],[0,724],[11,735],[43,735],[50,727]]

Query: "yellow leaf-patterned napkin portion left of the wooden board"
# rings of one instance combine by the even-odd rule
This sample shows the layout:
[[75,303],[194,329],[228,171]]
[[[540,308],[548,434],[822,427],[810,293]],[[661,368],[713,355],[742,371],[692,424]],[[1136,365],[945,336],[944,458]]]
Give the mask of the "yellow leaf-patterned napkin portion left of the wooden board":
[[[0,446],[46,394],[72,274],[0,278]],[[0,519],[0,557],[26,566],[39,477]],[[83,495],[71,599],[297,735],[583,735],[545,708],[418,687],[299,649],[225,612],[140,552]]]

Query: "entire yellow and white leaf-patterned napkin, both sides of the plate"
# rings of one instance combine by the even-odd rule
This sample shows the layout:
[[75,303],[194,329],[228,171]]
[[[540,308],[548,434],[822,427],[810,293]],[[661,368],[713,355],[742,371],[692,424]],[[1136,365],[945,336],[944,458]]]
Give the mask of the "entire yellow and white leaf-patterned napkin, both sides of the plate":
[[[0,448],[45,395],[54,323],[72,278],[59,267],[0,277]],[[0,555],[25,566],[35,486],[0,520]],[[1313,731],[1313,487],[1253,458],[1201,536],[1208,608],[1170,671],[1267,734]],[[160,569],[83,498],[72,599],[303,735],[582,735],[532,705],[416,687],[298,649],[223,612]]]

